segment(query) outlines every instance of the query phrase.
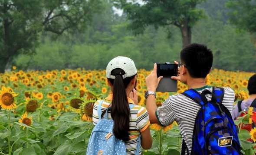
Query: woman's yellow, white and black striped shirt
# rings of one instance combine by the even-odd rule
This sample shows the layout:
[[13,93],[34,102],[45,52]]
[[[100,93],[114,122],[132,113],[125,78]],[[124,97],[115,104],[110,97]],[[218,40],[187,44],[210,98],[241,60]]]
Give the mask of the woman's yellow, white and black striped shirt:
[[[108,95],[102,103],[102,112],[105,111],[112,104],[113,94]],[[92,122],[94,125],[98,123],[98,103],[96,101],[93,106]],[[131,98],[128,98],[128,103],[134,104]],[[108,111],[108,119],[111,119],[111,111]],[[125,142],[125,148],[127,155],[135,155],[136,147],[138,145],[138,138],[140,132],[143,132],[149,127],[149,116],[146,108],[141,107],[140,105],[135,105],[131,109],[131,118],[130,118],[130,140]],[[140,151],[141,155],[141,151]]]

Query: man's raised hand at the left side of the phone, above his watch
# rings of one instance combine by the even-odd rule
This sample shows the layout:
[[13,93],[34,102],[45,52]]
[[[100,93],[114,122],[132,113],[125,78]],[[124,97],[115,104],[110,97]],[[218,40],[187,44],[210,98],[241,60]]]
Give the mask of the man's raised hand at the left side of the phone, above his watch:
[[161,79],[163,79],[163,76],[157,76],[157,64],[154,63],[153,71],[148,75],[148,77],[146,77],[146,85],[148,91],[155,92]]

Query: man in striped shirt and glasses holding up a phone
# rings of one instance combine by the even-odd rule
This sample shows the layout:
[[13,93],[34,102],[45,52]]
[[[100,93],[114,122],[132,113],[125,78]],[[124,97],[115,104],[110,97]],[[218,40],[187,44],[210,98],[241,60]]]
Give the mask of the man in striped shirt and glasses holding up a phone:
[[[178,64],[175,61],[176,64]],[[206,76],[210,73],[213,64],[213,54],[210,49],[202,44],[189,44],[181,51],[181,64],[179,64],[178,76],[171,79],[179,80],[187,84],[189,89],[195,89],[200,94],[204,90],[213,91],[210,85],[206,85]],[[157,108],[155,104],[155,91],[162,77],[157,77],[156,64],[154,70],[146,78],[148,88],[146,108],[149,113],[151,123],[158,123],[162,126],[177,121],[181,130],[182,139],[186,142],[188,152],[190,154],[192,148],[192,136],[196,115],[200,109],[195,101],[182,94],[172,95],[167,98],[162,106]],[[235,93],[232,89],[225,87],[225,95],[222,104],[232,112],[235,99]],[[211,95],[206,95],[207,100],[211,100]],[[186,153],[187,154],[187,153]]]

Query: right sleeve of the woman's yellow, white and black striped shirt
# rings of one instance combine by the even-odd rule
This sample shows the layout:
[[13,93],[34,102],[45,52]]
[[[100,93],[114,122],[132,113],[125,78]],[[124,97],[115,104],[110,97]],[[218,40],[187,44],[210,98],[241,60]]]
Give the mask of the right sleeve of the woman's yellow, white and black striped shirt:
[[136,118],[136,126],[140,132],[143,132],[148,128],[150,124],[148,111],[146,108],[141,107],[138,109],[138,114]]

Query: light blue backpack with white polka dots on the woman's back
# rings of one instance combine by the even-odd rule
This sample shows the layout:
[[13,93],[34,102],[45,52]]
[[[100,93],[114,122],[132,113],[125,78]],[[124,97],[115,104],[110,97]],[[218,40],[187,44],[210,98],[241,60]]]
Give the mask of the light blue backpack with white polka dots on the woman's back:
[[[114,121],[108,120],[109,107],[105,116],[101,118],[103,100],[98,104],[98,123],[93,128],[86,155],[126,155],[125,142],[115,138],[113,134]],[[129,104],[130,109],[135,107],[134,104]],[[139,155],[141,146],[141,138],[138,138],[138,145],[135,155]]]

